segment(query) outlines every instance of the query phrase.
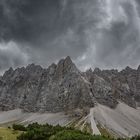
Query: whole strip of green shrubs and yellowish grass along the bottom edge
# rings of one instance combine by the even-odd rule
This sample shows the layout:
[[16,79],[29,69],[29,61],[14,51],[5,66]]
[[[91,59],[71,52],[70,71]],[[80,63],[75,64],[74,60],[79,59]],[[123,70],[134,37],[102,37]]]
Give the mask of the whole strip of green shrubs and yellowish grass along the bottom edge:
[[[103,129],[103,128],[102,128]],[[102,130],[104,131],[104,130]],[[105,132],[106,134],[106,132]],[[87,132],[73,129],[71,127],[40,125],[33,123],[24,127],[13,125],[12,128],[0,128],[0,140],[115,140],[108,135],[91,135]],[[131,139],[119,138],[118,140],[140,140],[140,136]]]

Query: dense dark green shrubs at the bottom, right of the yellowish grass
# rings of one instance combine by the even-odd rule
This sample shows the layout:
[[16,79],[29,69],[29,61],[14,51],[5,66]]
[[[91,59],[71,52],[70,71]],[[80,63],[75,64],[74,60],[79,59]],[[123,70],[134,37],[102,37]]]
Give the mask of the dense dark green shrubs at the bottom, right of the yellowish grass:
[[26,131],[18,137],[18,140],[108,140],[108,138],[93,136],[71,127],[33,123],[26,127]]

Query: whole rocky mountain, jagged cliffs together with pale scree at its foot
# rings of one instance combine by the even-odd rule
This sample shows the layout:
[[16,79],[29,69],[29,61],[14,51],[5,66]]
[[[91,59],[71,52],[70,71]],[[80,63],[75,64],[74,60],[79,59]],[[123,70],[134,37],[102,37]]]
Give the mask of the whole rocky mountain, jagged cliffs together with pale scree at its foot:
[[[81,72],[66,57],[47,69],[31,64],[10,68],[0,77],[1,124],[15,120],[45,123],[53,114],[55,117],[49,116],[53,123],[61,120],[62,125],[68,125],[78,118],[73,125],[80,129],[90,124],[96,134],[106,128],[114,135],[132,136],[140,132],[139,107],[140,67]],[[9,110],[19,113],[19,118],[6,119],[8,115],[3,113]]]

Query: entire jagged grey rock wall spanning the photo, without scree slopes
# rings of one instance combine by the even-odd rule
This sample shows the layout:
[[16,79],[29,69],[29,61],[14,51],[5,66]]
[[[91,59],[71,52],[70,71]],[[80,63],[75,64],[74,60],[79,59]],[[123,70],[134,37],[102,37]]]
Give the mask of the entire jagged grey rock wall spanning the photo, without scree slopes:
[[10,68],[0,77],[0,110],[60,112],[93,107],[96,102],[114,108],[119,100],[140,106],[140,68],[82,73],[66,57],[47,69],[31,64]]

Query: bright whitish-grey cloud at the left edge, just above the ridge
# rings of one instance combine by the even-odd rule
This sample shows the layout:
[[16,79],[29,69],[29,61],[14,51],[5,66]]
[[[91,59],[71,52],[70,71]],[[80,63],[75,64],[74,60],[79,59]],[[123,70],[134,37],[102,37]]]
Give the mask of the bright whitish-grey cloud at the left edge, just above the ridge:
[[0,73],[8,67],[23,66],[28,63],[28,56],[14,42],[0,44]]

